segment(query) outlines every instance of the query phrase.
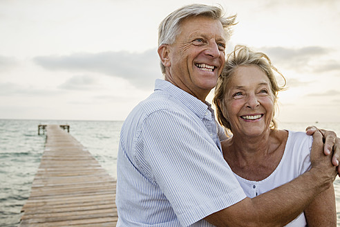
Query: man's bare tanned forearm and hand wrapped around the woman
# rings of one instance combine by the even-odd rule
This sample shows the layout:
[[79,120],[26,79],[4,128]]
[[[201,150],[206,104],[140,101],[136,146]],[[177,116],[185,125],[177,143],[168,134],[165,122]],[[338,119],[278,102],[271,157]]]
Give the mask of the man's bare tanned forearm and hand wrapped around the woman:
[[330,188],[337,176],[330,156],[321,152],[321,134],[315,132],[313,137],[310,171],[270,192],[215,212],[205,220],[215,226],[284,226],[295,219],[314,197]]

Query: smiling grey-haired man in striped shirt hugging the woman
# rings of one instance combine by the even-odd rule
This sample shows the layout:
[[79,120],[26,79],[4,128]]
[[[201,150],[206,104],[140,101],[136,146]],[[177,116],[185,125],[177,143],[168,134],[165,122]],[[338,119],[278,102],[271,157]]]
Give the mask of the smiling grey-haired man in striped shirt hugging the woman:
[[117,226],[283,226],[334,181],[336,167],[321,152],[316,132],[309,172],[245,197],[223,159],[225,135],[205,101],[225,64],[235,20],[222,14],[195,4],[160,24],[164,80],[156,80],[154,93],[131,111],[121,131]]

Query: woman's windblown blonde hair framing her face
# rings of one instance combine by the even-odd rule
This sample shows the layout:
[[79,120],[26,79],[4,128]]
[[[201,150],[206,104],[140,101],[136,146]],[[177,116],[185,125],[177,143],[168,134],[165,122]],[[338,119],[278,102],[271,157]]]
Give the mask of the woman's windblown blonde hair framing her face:
[[[247,46],[235,46],[234,51],[227,55],[227,60],[225,62],[225,67],[223,69],[222,74],[218,78],[218,82],[215,88],[215,96],[213,99],[213,103],[216,106],[216,116],[218,122],[223,125],[225,128],[231,130],[230,122],[223,115],[223,110],[227,107],[225,105],[225,93],[227,92],[227,85],[232,78],[232,75],[238,68],[238,66],[258,66],[265,75],[270,80],[270,85],[272,88],[272,93],[274,95],[274,113],[272,122],[270,127],[272,129],[277,128],[276,120],[274,119],[275,109],[277,109],[277,95],[278,91],[285,90],[286,80],[285,77],[272,65],[270,58],[261,52],[254,52],[250,50]],[[278,86],[278,82],[276,81],[276,76],[274,73],[281,75],[284,80],[283,86]]]

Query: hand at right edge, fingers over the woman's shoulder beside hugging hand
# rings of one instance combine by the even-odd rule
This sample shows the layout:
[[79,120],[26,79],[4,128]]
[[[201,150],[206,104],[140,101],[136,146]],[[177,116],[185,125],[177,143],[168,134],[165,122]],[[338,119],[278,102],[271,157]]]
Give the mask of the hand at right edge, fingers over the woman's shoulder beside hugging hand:
[[[306,133],[308,135],[314,134],[314,132],[319,131],[323,136],[323,152],[325,155],[333,154],[332,157],[332,164],[334,166],[337,166],[337,170],[340,176],[340,167],[339,167],[339,161],[340,161],[340,138],[337,137],[337,134],[335,134],[334,131],[327,131],[325,129],[318,129],[315,126],[310,126],[306,129]],[[334,152],[334,153],[332,153]]]

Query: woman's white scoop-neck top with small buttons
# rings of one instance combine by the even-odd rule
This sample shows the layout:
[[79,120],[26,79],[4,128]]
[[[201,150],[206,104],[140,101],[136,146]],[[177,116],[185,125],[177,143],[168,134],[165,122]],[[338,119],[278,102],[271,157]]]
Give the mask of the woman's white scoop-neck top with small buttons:
[[[310,170],[310,150],[312,149],[313,137],[302,131],[287,131],[285,152],[276,170],[270,176],[262,181],[249,181],[234,173],[247,197],[253,198],[268,192]],[[287,226],[307,226],[303,212]]]

